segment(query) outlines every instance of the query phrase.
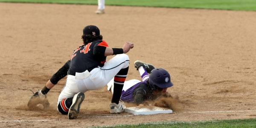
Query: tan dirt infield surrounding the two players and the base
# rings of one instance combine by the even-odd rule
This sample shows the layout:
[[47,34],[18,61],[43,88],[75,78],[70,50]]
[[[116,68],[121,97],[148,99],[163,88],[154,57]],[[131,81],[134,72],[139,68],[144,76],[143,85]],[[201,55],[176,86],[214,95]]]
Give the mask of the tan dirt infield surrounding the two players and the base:
[[[0,3],[0,127],[88,127],[158,121],[256,117],[256,12]],[[106,87],[85,93],[78,119],[58,114],[65,79],[47,94],[47,111],[29,110],[32,93],[82,44],[84,26],[96,25],[110,47],[135,44],[127,79],[140,79],[136,60],[169,71],[176,113],[109,114]],[[110,57],[111,58],[111,57]],[[132,106],[132,104],[128,104]],[[196,111],[235,111],[191,113]]]

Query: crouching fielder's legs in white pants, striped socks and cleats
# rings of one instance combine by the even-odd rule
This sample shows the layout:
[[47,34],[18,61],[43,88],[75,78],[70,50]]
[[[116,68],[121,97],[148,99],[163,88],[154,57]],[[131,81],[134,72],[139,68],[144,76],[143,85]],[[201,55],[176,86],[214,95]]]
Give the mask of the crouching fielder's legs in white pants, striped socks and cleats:
[[[79,92],[85,92],[87,90],[96,90],[102,88],[109,81],[111,81],[113,77],[115,77],[115,88],[112,98],[113,103],[111,103],[110,109],[113,108],[111,113],[123,112],[125,105],[123,105],[122,102],[119,103],[119,100],[122,93],[122,87],[128,73],[128,68],[128,55],[120,54],[106,62],[103,67],[93,69],[90,72],[90,76],[85,79],[76,79],[75,76],[68,75],[66,87],[64,87],[64,89],[61,91],[61,94],[58,98],[58,109],[63,110],[63,114],[67,114],[67,110],[69,110],[69,119],[76,118],[77,114],[79,113],[80,104],[84,98],[80,98],[83,97],[81,94],[78,94],[79,98],[76,98],[75,94]],[[73,96],[74,98],[72,103],[74,105],[70,105],[69,98]],[[61,104],[61,102],[66,104]],[[72,106],[74,106],[74,108]]]

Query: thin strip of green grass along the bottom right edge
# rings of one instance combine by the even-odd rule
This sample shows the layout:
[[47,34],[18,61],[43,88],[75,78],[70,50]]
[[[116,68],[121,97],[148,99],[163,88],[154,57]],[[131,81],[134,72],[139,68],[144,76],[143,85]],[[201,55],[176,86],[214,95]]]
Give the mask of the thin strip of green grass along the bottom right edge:
[[[138,125],[116,125],[111,128],[256,128],[256,119],[215,120],[205,122],[157,122]],[[99,127],[108,128],[108,127]]]

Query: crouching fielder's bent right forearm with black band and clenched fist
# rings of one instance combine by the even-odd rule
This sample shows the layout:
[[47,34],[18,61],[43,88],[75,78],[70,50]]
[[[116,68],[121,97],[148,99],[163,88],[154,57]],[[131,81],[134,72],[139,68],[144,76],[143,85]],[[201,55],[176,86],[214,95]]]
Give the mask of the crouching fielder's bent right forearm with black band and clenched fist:
[[122,54],[127,53],[134,47],[134,44],[132,42],[125,42],[122,48],[109,48],[107,47],[105,50],[105,56],[108,55],[116,55],[116,54]]

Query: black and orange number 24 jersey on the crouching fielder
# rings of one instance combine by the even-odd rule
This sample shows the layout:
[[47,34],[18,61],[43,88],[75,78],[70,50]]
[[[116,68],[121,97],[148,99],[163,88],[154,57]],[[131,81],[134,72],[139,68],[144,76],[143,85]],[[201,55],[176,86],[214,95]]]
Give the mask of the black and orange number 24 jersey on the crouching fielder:
[[105,64],[105,50],[108,43],[103,40],[93,41],[82,45],[73,52],[70,62],[69,74],[82,73],[95,67],[102,67]]

